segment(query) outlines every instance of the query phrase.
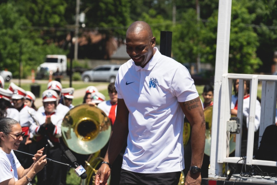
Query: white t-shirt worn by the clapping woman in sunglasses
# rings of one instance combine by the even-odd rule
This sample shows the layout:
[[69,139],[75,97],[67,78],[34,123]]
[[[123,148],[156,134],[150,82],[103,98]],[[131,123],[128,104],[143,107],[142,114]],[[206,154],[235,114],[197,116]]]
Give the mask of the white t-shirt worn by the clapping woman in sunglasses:
[[0,149],[0,183],[12,178],[17,181],[17,168],[20,166],[21,164],[14,155],[13,150],[8,154]]

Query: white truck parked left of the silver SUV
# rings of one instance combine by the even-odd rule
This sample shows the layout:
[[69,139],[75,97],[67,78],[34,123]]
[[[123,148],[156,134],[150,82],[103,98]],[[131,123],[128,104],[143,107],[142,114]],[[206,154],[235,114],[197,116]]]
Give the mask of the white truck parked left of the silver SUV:
[[51,71],[55,73],[57,69],[64,75],[66,74],[67,57],[65,55],[46,55],[45,62],[38,66],[36,79],[48,77]]

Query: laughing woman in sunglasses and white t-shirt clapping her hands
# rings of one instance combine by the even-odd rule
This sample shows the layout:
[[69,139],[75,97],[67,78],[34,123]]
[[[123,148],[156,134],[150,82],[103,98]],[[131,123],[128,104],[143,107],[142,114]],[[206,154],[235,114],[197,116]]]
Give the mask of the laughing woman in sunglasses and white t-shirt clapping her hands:
[[44,148],[37,151],[33,164],[24,169],[13,150],[17,150],[23,140],[24,132],[18,121],[12,118],[0,120],[0,184],[28,184],[36,173],[46,165],[46,155],[42,156]]

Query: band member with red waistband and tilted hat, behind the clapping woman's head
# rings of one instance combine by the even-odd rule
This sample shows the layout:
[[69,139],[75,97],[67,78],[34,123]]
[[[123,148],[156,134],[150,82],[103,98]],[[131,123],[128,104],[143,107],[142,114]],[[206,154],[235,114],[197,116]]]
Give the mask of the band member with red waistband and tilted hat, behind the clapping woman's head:
[[[22,131],[25,132],[25,135],[23,136],[23,142],[20,143],[18,150],[23,151],[26,153],[30,153],[29,145],[27,145],[27,137],[29,136],[29,127],[34,124],[35,121],[31,117],[31,114],[35,114],[35,110],[24,105],[26,91],[23,88],[18,87],[13,82],[10,83],[9,90],[13,92],[12,94],[12,103],[14,104],[14,108],[16,108],[19,111],[19,123],[22,127]],[[29,113],[30,112],[30,113]],[[26,158],[21,153],[16,153],[16,157],[18,158],[20,164],[27,168],[31,165],[32,160],[29,158]]]

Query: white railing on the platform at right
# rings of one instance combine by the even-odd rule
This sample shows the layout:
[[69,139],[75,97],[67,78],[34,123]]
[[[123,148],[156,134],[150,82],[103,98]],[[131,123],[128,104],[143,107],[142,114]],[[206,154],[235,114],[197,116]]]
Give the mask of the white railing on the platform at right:
[[[248,74],[223,74],[221,84],[220,103],[218,106],[219,119],[216,127],[212,127],[212,133],[217,132],[218,137],[212,137],[212,143],[217,143],[217,162],[218,163],[242,163],[243,160],[240,157],[241,149],[241,134],[236,134],[236,148],[235,157],[227,157],[227,121],[231,117],[231,95],[233,80],[239,79],[239,84],[244,84],[244,80],[250,80],[250,114],[249,114],[249,126],[248,126],[248,139],[247,139],[247,153],[246,164],[247,165],[263,165],[263,166],[277,166],[276,161],[254,160],[253,159],[253,145],[254,145],[254,120],[256,112],[256,100],[258,82],[262,82],[262,94],[261,94],[261,121],[259,138],[263,135],[265,128],[268,125],[275,123],[276,114],[276,88],[277,88],[277,76],[275,75],[248,75]],[[237,117],[240,119],[242,125],[242,106],[243,106],[243,93],[244,86],[239,86],[238,90],[238,113]],[[214,129],[217,129],[216,131]],[[242,126],[241,130],[242,131]],[[242,133],[242,132],[240,132]],[[215,140],[216,139],[216,140]],[[260,141],[260,140],[259,140]],[[211,149],[212,151],[212,149]],[[214,153],[216,154],[216,153]],[[211,153],[212,155],[212,153]],[[222,173],[222,168],[218,174]]]

